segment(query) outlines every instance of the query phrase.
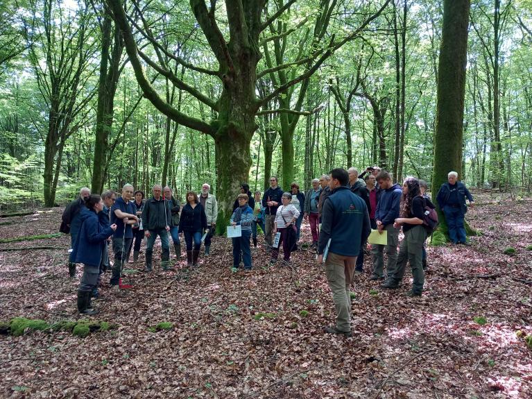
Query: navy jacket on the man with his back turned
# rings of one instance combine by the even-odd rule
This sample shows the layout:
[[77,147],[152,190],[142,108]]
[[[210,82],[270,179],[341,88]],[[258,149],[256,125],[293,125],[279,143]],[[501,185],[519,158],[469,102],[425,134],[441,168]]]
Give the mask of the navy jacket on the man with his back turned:
[[358,256],[360,246],[370,235],[370,216],[362,198],[347,187],[336,187],[323,203],[318,253],[322,254],[331,239],[329,252]]

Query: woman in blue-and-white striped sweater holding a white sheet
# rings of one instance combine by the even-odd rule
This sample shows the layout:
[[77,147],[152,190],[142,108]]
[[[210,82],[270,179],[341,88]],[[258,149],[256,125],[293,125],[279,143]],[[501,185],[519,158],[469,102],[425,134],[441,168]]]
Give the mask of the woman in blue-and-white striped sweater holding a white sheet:
[[251,225],[255,221],[253,210],[248,205],[248,194],[239,194],[237,196],[239,207],[234,210],[231,216],[231,226],[241,226],[241,237],[232,238],[233,241],[233,267],[238,269],[240,265],[240,254],[242,253],[242,260],[244,263],[244,270],[251,270],[251,249],[250,249],[250,237],[251,237]]

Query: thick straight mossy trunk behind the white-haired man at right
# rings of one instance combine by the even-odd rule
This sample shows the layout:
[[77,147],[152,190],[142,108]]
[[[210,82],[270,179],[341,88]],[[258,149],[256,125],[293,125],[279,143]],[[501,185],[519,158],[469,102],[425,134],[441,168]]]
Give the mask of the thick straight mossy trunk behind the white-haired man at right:
[[[465,65],[470,0],[443,1],[443,31],[438,62],[438,100],[436,105],[436,137],[434,138],[434,196],[447,182],[447,173],[462,172],[463,109]],[[435,201],[436,202],[436,201]],[[438,208],[438,217],[443,212]],[[447,225],[442,223],[447,235]]]

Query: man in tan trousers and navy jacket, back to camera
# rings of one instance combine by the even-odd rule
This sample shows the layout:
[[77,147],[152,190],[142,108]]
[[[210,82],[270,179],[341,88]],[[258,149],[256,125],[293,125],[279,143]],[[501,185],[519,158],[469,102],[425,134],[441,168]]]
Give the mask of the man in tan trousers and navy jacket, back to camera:
[[336,325],[325,327],[329,334],[351,337],[350,285],[360,244],[370,235],[370,219],[366,203],[347,188],[345,169],[333,169],[329,186],[332,194],[323,203],[322,225],[318,241],[318,264],[330,239],[325,273],[332,291]]

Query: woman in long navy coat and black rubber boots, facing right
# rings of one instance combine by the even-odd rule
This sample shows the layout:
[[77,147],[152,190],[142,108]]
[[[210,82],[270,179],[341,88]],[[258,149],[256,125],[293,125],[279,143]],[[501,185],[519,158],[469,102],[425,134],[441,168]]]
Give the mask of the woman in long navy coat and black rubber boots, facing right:
[[80,212],[81,227],[73,258],[75,262],[83,263],[83,276],[78,289],[78,312],[80,314],[96,314],[97,310],[90,306],[92,290],[98,285],[100,262],[103,253],[104,240],[108,239],[117,225],[105,226],[98,220],[98,213],[103,210],[101,196],[91,195],[85,199],[85,207]]

